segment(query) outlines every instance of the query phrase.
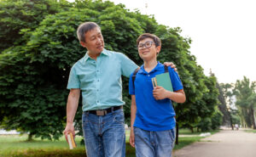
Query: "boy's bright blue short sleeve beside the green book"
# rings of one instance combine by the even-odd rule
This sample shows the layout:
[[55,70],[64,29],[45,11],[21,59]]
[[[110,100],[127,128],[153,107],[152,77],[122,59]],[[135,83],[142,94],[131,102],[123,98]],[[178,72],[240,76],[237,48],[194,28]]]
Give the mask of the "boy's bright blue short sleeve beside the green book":
[[169,75],[170,75],[171,81],[172,81],[173,91],[175,92],[175,91],[183,89],[183,83],[180,80],[179,76],[177,75],[177,72],[169,66],[168,66],[168,70],[169,70]]

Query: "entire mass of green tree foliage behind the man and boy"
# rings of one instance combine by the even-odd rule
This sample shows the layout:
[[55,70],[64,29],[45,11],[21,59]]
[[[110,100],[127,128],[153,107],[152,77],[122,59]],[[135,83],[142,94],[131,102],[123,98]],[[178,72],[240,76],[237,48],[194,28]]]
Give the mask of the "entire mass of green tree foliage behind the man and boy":
[[[30,5],[37,7],[26,7]],[[76,37],[76,29],[84,21],[101,26],[106,48],[125,53],[137,64],[142,64],[137,54],[137,36],[144,32],[160,36],[159,60],[177,65],[187,95],[185,104],[175,106],[181,126],[196,126],[216,111],[216,78],[203,74],[189,52],[191,39],[180,36],[180,28],[159,25],[154,17],[130,12],[122,4],[108,1],[12,0],[2,1],[1,7],[9,10],[8,16],[0,13],[1,17],[9,17],[1,20],[1,31],[7,28],[1,32],[6,45],[2,45],[4,50],[0,54],[0,122],[5,129],[49,139],[61,136],[66,122],[69,70],[86,52]],[[15,34],[10,37],[10,32]],[[131,100],[127,78],[123,85],[125,117],[129,121]],[[81,128],[79,104],[77,128]]]

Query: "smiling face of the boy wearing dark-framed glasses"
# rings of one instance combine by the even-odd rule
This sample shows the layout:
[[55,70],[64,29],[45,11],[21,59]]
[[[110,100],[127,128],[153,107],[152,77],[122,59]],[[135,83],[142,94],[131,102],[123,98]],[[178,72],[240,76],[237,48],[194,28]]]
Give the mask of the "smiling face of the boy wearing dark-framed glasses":
[[160,52],[160,46],[155,47],[155,43],[151,38],[145,38],[138,44],[139,56],[145,61],[156,59],[157,53]]

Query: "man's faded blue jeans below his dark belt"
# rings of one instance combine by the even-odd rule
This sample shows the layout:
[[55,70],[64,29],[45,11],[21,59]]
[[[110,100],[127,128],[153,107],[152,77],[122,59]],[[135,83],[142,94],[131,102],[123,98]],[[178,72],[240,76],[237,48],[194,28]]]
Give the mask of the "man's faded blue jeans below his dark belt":
[[82,115],[84,143],[88,157],[125,157],[125,117],[123,109],[98,116]]

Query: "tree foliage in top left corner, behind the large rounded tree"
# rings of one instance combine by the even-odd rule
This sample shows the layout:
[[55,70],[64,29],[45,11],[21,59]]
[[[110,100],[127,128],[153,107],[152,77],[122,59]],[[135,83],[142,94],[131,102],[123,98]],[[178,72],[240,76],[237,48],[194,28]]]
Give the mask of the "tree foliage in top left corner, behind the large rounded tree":
[[48,14],[71,7],[66,1],[3,0],[0,1],[0,51],[26,43],[26,32],[35,30]]

